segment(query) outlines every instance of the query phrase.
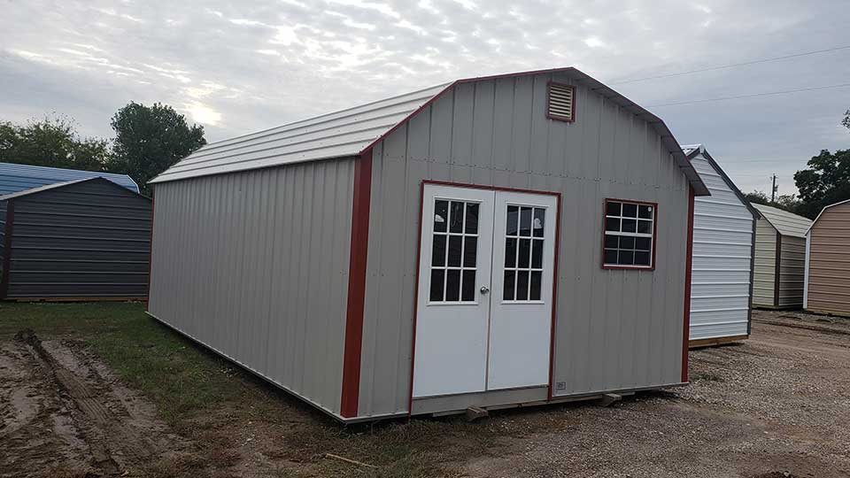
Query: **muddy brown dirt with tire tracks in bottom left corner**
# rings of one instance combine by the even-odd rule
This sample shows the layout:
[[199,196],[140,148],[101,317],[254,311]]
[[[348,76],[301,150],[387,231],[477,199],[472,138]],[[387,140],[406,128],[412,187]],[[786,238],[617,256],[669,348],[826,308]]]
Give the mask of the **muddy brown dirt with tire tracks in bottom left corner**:
[[73,343],[16,338],[0,349],[0,476],[120,475],[185,448]]

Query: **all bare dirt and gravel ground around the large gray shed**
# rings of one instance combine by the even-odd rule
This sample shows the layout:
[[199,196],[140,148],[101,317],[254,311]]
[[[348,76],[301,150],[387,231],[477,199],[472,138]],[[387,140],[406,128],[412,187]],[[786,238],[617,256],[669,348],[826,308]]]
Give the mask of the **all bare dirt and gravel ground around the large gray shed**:
[[[192,346],[158,328],[100,349],[127,382],[85,335],[0,343],[0,476],[850,477],[850,322],[754,319],[750,340],[691,352],[688,387],[354,428],[217,358],[187,360]],[[168,371],[179,380],[155,380]],[[178,402],[191,406],[162,412]]]

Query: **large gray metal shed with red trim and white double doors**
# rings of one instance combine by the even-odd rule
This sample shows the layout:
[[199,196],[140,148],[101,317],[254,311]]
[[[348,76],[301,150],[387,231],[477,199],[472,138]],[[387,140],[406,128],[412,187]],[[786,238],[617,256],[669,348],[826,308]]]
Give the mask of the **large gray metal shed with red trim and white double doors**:
[[339,420],[687,382],[708,189],[574,68],[209,144],[151,182],[151,316]]

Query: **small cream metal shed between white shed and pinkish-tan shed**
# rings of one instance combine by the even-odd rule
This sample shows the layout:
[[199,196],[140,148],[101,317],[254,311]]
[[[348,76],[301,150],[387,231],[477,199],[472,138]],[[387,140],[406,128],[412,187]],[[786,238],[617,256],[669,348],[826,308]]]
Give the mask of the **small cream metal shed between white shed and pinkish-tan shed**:
[[755,225],[753,306],[794,309],[803,306],[806,231],[812,220],[764,204]]

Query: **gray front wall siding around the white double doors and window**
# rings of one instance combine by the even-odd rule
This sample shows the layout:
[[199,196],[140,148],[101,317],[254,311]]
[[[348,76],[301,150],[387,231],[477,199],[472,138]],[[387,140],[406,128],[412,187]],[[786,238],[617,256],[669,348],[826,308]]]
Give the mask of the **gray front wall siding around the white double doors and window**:
[[[462,84],[374,151],[359,415],[406,412],[422,180],[560,191],[556,395],[679,382],[688,184],[643,120],[576,89],[576,123],[545,118],[562,74]],[[603,200],[659,203],[654,271],[603,270]]]

